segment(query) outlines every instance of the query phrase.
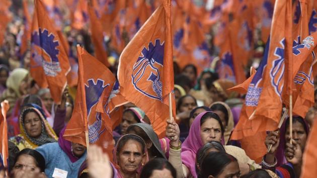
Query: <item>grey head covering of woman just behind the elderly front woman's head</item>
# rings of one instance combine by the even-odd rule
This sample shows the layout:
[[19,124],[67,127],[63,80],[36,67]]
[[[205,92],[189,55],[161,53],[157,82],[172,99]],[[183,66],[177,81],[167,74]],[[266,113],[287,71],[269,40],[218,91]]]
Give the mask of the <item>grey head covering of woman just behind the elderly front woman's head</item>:
[[149,124],[146,124],[146,123],[136,123],[136,124],[130,125],[128,130],[131,129],[132,127],[141,128],[146,133],[148,138],[151,140],[151,142],[153,143],[156,150],[159,151],[160,154],[162,155],[162,157],[166,159],[166,156],[165,156],[164,152],[162,151],[159,137],[157,137],[157,134],[154,132],[152,126],[150,126]]

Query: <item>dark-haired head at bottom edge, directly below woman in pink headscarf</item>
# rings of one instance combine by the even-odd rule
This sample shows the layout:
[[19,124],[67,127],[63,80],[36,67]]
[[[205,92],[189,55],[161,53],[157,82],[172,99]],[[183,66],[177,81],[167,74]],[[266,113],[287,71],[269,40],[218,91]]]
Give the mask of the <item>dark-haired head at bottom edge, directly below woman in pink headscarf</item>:
[[201,165],[202,178],[239,178],[240,174],[238,161],[228,153],[210,152]]

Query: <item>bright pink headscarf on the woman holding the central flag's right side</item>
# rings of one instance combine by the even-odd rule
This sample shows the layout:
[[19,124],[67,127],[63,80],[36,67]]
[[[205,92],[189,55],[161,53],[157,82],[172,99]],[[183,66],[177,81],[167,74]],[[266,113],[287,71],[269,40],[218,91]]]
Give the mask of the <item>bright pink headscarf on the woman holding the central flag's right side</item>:
[[[196,173],[196,153],[203,146],[200,136],[200,120],[206,113],[213,113],[210,111],[200,113],[194,120],[189,129],[189,134],[184,143],[182,144],[182,161],[189,168],[193,177],[197,178]],[[219,123],[220,124],[220,123]],[[221,143],[223,142],[223,134],[221,135]]]

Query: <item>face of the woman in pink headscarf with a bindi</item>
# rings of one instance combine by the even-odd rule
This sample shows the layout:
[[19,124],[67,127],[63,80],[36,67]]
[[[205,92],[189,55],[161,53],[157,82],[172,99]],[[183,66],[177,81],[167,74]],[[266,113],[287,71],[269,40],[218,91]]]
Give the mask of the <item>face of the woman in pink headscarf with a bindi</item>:
[[208,118],[200,126],[200,137],[202,144],[210,141],[221,141],[221,127],[216,119]]

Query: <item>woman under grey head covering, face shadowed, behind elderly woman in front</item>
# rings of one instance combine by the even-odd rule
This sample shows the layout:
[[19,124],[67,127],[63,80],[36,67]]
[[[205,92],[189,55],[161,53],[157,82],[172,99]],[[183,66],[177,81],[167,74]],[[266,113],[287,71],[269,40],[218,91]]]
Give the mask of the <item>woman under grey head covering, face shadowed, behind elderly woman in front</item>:
[[149,159],[155,157],[166,158],[162,151],[159,137],[157,137],[153,128],[149,124],[132,124],[128,127],[127,133],[138,135],[144,140]]

